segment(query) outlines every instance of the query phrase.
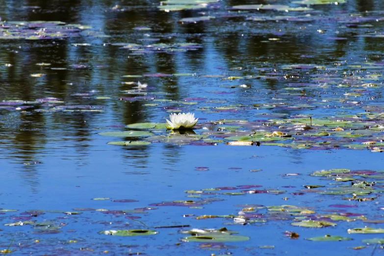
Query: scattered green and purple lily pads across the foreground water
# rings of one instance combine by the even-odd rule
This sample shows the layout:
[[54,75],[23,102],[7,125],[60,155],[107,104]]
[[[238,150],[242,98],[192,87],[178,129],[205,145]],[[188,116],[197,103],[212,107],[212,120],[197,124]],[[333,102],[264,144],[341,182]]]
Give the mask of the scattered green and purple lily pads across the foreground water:
[[[287,177],[294,177],[299,174],[287,174]],[[330,169],[314,171],[310,174],[311,177],[319,177],[322,179],[323,185],[305,184],[299,190],[290,193],[289,197],[301,196],[304,193],[318,193],[321,195],[328,195],[330,197],[343,197],[350,195],[350,198],[343,198],[349,202],[346,204],[333,204],[328,205],[329,208],[324,208],[315,205],[301,204],[298,205],[258,205],[258,204],[240,204],[234,205],[236,207],[235,212],[224,215],[184,215],[184,217],[192,217],[195,221],[193,223],[208,222],[212,219],[222,219],[225,226],[244,226],[244,225],[264,225],[265,223],[274,222],[289,222],[292,229],[295,231],[283,232],[282,236],[286,236],[291,239],[302,239],[301,233],[304,230],[297,230],[295,227],[301,228],[314,228],[314,229],[327,229],[326,235],[305,237],[308,241],[348,241],[357,239],[354,234],[382,234],[384,229],[367,227],[366,225],[373,225],[382,223],[383,221],[377,219],[377,216],[370,212],[356,212],[360,204],[371,204],[370,207],[377,207],[374,203],[369,203],[377,199],[377,195],[382,193],[383,186],[381,183],[384,180],[384,171],[378,170],[350,170],[350,169]],[[324,179],[329,180],[328,184],[324,184]],[[15,209],[0,209],[0,214],[11,214],[10,218],[15,221],[12,223],[4,224],[4,229],[11,229],[16,226],[29,226],[32,228],[29,233],[33,235],[44,234],[58,234],[62,232],[64,227],[71,227],[74,221],[77,222],[77,216],[81,216],[85,212],[100,212],[105,216],[111,216],[113,218],[128,219],[129,221],[136,223],[136,227],[144,226],[145,229],[123,229],[123,226],[115,226],[115,229],[100,230],[99,234],[111,235],[111,236],[145,236],[156,235],[161,229],[171,228],[178,229],[179,234],[183,235],[180,240],[183,242],[200,242],[219,245],[220,243],[227,242],[243,242],[254,237],[245,235],[239,235],[239,231],[229,230],[225,227],[220,229],[200,229],[192,228],[190,225],[175,225],[175,226],[158,226],[150,227],[144,222],[139,221],[141,216],[147,216],[149,211],[158,209],[158,207],[175,207],[183,206],[187,208],[203,209],[208,204],[220,204],[222,201],[226,201],[229,196],[245,196],[254,198],[268,195],[284,195],[288,193],[288,190],[292,191],[296,187],[285,186],[285,190],[279,188],[262,188],[262,185],[237,185],[235,187],[216,187],[205,188],[200,190],[186,190],[184,191],[188,200],[178,200],[173,202],[161,202],[150,204],[147,207],[134,208],[130,210],[108,210],[108,209],[96,209],[96,208],[74,208],[72,211],[47,211],[47,210],[26,210],[19,215],[15,215],[18,210]],[[367,195],[370,195],[367,199]],[[374,196],[372,196],[374,195]],[[95,201],[111,200],[110,198],[93,198]],[[285,198],[289,200],[289,198]],[[254,201],[254,199],[252,199]],[[353,202],[352,204],[350,202]],[[112,200],[117,204],[137,202],[132,199],[115,199]],[[364,202],[364,203],[360,203]],[[353,212],[347,211],[354,209]],[[366,208],[364,208],[366,211]],[[62,214],[66,217],[59,217],[51,220],[47,220],[44,217],[45,214]],[[132,215],[135,214],[135,215]],[[41,221],[44,218],[44,221]],[[39,221],[37,221],[39,220]],[[115,221],[116,222],[116,221]],[[116,223],[119,223],[117,221]],[[346,230],[348,236],[332,235],[335,227],[340,223],[346,223],[350,228]],[[356,224],[355,224],[356,223]],[[102,224],[102,223],[100,223]],[[198,225],[198,226],[206,226]],[[345,226],[345,225],[344,225]],[[24,228],[23,228],[24,229]],[[37,240],[36,240],[37,241]],[[82,242],[81,239],[71,239],[63,242],[62,244],[71,244]],[[383,244],[382,238],[369,238],[362,239],[363,244]],[[357,245],[354,249],[362,249],[366,245]],[[261,248],[261,247],[260,247]],[[7,249],[8,250],[8,249]],[[12,250],[9,250],[12,251]]]

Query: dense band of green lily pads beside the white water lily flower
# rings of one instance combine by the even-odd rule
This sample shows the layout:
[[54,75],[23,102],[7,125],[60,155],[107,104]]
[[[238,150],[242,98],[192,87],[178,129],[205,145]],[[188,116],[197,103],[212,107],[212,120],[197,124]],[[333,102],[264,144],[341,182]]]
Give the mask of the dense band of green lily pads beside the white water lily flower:
[[[348,120],[348,121],[347,121]],[[349,121],[351,120],[351,121]],[[356,121],[355,121],[356,120]],[[118,145],[147,145],[162,142],[175,145],[280,146],[294,149],[355,149],[382,152],[381,125],[361,118],[311,118],[295,116],[270,120],[216,120],[198,124],[194,130],[167,131],[162,123],[128,125],[126,131],[106,131],[104,136],[126,138]],[[144,130],[143,130],[144,129]],[[132,140],[134,138],[134,140]]]

